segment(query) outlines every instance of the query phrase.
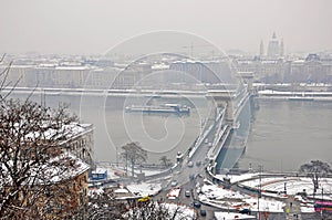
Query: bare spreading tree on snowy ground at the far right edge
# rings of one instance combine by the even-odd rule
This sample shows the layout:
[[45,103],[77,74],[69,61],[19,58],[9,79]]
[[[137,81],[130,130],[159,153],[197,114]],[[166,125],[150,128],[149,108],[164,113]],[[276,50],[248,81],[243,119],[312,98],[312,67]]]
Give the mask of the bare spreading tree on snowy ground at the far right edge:
[[299,171],[311,177],[313,182],[313,193],[315,193],[319,189],[319,178],[325,177],[328,174],[332,174],[331,166],[321,160],[311,160],[309,164],[302,165]]

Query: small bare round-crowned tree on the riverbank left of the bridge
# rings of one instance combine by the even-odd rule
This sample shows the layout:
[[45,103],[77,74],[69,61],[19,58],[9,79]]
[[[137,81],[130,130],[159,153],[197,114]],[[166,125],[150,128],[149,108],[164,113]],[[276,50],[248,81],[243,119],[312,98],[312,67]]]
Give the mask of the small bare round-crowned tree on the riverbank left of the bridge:
[[122,158],[126,161],[126,170],[127,170],[127,163],[131,164],[132,167],[132,176],[134,177],[134,168],[135,165],[142,164],[147,159],[147,151],[143,149],[138,143],[129,143],[122,146],[124,150],[121,155]]

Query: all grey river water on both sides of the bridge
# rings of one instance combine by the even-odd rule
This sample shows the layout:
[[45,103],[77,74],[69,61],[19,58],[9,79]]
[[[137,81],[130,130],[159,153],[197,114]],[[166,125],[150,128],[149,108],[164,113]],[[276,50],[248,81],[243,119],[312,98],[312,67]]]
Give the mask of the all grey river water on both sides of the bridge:
[[[24,97],[27,95],[18,95]],[[17,97],[17,95],[14,95]],[[40,94],[32,96],[41,101]],[[46,94],[46,105],[70,104],[82,122],[94,124],[95,159],[116,161],[121,146],[139,142],[149,151],[149,163],[159,163],[166,155],[173,161],[177,151],[185,151],[200,133],[210,108],[206,98],[115,97],[103,95]],[[252,124],[247,148],[239,167],[266,170],[298,170],[311,159],[332,163],[332,102],[291,102],[256,99],[259,108],[251,114]],[[181,103],[191,106],[190,115],[128,114],[132,104]]]

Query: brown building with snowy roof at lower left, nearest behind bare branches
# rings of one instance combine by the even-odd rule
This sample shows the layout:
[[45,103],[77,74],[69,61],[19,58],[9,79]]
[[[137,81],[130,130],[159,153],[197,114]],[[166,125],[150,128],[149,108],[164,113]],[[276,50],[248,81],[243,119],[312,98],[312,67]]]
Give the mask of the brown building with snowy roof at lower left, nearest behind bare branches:
[[[8,171],[4,165],[1,167],[2,172]],[[31,168],[13,201],[25,210],[18,210],[12,218],[68,219],[84,212],[89,201],[89,170],[87,164],[69,153]],[[7,193],[15,191],[10,175],[0,180],[0,186],[3,187],[0,190]]]

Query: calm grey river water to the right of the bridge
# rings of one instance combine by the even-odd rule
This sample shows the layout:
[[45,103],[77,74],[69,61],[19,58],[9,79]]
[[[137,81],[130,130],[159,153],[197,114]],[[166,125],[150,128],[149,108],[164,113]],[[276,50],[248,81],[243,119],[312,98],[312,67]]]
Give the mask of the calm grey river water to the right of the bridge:
[[240,168],[290,171],[312,159],[332,163],[332,102],[256,102]]

